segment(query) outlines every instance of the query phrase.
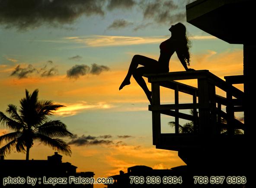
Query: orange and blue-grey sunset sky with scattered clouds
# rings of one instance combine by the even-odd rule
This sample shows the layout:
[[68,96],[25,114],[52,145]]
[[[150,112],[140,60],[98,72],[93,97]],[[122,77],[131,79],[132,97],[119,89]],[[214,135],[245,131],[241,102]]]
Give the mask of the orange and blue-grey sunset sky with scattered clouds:
[[[25,89],[39,89],[39,99],[65,105],[52,119],[63,121],[72,156],[63,162],[96,177],[127,172],[134,165],[167,169],[185,163],[177,152],[152,145],[151,112],[143,90],[131,85],[118,91],[133,55],[158,59],[159,45],[177,22],[192,42],[191,66],[223,79],[243,74],[243,46],[226,43],[186,22],[193,0],[0,0],[0,111],[19,106]],[[176,53],[170,71],[185,71]],[[193,81],[188,81],[195,85]],[[149,85],[150,86],[150,85]],[[161,101],[174,102],[162,90]],[[184,96],[181,102],[189,101]],[[162,131],[174,118],[162,116]],[[10,132],[0,125],[0,135]],[[54,151],[40,143],[30,159]],[[6,159],[25,159],[13,151]]]

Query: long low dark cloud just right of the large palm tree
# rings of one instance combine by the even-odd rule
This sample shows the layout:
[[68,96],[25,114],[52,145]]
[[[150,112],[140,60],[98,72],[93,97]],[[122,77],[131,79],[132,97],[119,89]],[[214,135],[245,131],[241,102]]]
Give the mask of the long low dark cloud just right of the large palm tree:
[[[101,136],[99,136],[101,137]],[[74,135],[71,137],[71,141],[68,142],[68,144],[74,144],[77,146],[82,146],[82,145],[110,145],[114,144],[112,140],[102,140],[102,139],[97,139],[99,137],[96,136],[80,136],[78,137],[77,135]]]

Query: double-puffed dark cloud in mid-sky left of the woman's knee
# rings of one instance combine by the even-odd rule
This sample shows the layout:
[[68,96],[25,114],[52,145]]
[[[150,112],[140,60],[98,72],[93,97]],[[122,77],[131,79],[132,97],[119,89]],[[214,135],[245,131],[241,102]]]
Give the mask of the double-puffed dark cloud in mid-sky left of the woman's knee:
[[92,64],[91,68],[88,65],[74,65],[69,70],[67,70],[68,78],[79,78],[86,74],[96,74],[99,75],[103,71],[109,71],[109,67],[105,65],[97,65],[96,63]]

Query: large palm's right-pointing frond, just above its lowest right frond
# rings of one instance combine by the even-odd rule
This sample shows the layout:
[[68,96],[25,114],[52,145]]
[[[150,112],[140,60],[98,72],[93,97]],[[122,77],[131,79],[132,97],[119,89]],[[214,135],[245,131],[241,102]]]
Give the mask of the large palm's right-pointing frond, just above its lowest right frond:
[[60,120],[48,121],[42,124],[41,126],[38,126],[37,130],[39,134],[49,136],[49,137],[73,136],[73,134],[67,130],[67,126],[64,123],[62,123]]

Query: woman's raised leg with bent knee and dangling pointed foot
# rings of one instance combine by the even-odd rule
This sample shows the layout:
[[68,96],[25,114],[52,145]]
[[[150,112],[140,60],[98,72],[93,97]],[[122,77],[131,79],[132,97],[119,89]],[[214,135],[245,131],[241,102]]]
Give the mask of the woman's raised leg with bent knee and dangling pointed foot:
[[[155,61],[155,60],[147,58],[143,55],[134,55],[131,60],[131,64],[128,69],[127,75],[125,76],[124,81],[121,83],[119,90],[121,90],[124,86],[127,86],[131,83],[130,82],[131,75],[134,73],[134,71],[136,70],[138,65],[143,65],[145,67],[147,67],[147,66],[152,67],[153,61]],[[154,70],[152,70],[152,71],[154,71]]]

